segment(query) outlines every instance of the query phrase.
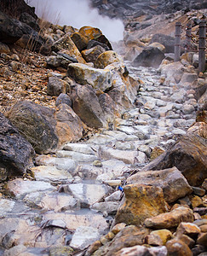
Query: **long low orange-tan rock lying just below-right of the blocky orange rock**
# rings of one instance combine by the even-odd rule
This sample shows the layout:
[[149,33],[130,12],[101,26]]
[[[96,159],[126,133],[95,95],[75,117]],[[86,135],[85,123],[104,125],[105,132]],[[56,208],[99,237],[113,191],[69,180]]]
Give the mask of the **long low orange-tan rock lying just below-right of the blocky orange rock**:
[[177,227],[181,222],[193,222],[193,211],[187,207],[175,208],[172,212],[159,214],[147,218],[144,224],[152,229],[170,229]]

